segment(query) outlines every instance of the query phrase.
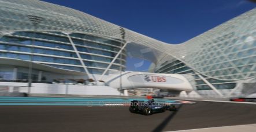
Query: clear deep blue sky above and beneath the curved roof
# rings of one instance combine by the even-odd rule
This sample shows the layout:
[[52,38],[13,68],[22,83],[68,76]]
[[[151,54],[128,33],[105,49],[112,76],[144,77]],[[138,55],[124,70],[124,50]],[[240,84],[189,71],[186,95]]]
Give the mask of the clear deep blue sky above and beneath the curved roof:
[[[135,32],[179,44],[222,24],[256,3],[247,0],[44,0],[80,10]],[[141,67],[134,64],[141,63]],[[149,61],[128,58],[127,70],[147,71]]]

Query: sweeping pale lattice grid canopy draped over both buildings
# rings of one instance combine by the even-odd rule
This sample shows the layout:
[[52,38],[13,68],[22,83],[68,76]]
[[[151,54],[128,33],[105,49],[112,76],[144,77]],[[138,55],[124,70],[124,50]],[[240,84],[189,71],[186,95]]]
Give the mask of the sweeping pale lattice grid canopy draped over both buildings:
[[[0,1],[2,35],[37,30],[93,34],[121,39],[120,26],[68,7],[34,0]],[[40,16],[35,26],[28,15]],[[182,44],[171,45],[125,29],[125,41],[144,45],[159,52],[157,62],[171,56],[202,75],[222,80],[256,76],[256,9],[233,18]]]

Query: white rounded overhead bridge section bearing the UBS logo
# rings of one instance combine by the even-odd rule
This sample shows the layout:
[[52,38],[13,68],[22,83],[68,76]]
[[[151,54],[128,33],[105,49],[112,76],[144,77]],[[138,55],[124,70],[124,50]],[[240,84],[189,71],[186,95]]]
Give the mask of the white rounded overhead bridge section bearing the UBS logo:
[[193,91],[189,81],[182,75],[127,71],[104,79],[106,84],[121,90],[134,88],[159,88],[176,91]]

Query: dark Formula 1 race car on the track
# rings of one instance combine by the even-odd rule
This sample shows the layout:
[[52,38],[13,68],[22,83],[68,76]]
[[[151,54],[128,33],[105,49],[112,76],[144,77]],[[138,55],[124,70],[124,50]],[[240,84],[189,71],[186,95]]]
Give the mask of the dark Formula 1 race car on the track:
[[132,100],[129,111],[132,113],[141,113],[144,115],[151,115],[156,112],[164,112],[165,110],[176,111],[177,108],[173,104],[157,103],[152,100],[144,102],[142,100]]

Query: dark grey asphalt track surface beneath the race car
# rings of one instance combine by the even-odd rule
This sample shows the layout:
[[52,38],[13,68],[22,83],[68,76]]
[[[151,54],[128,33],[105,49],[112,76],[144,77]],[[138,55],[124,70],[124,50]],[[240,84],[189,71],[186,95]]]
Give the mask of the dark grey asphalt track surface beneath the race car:
[[0,131],[171,131],[256,123],[256,105],[183,104],[150,116],[122,106],[0,106]]

